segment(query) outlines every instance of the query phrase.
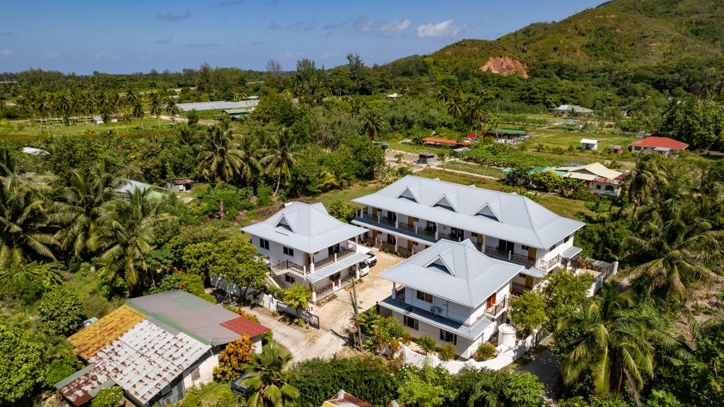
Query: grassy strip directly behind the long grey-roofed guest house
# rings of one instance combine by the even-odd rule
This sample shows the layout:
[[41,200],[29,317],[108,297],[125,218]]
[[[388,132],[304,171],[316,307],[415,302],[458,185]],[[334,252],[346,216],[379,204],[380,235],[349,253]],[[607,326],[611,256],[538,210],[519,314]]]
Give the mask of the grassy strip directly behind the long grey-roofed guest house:
[[[439,178],[443,181],[455,182],[463,185],[474,184],[479,188],[502,190],[504,192],[510,192],[515,189],[522,190],[522,188],[512,188],[500,181],[487,180],[485,178],[474,177],[472,175],[461,175],[455,172],[445,172],[440,169],[423,169],[421,172],[416,172],[415,175],[426,178]],[[576,201],[575,199],[543,194],[539,194],[538,201],[541,205],[562,217],[576,219],[576,214],[580,211],[584,211],[586,214],[592,214],[591,211],[586,209],[584,201]]]

